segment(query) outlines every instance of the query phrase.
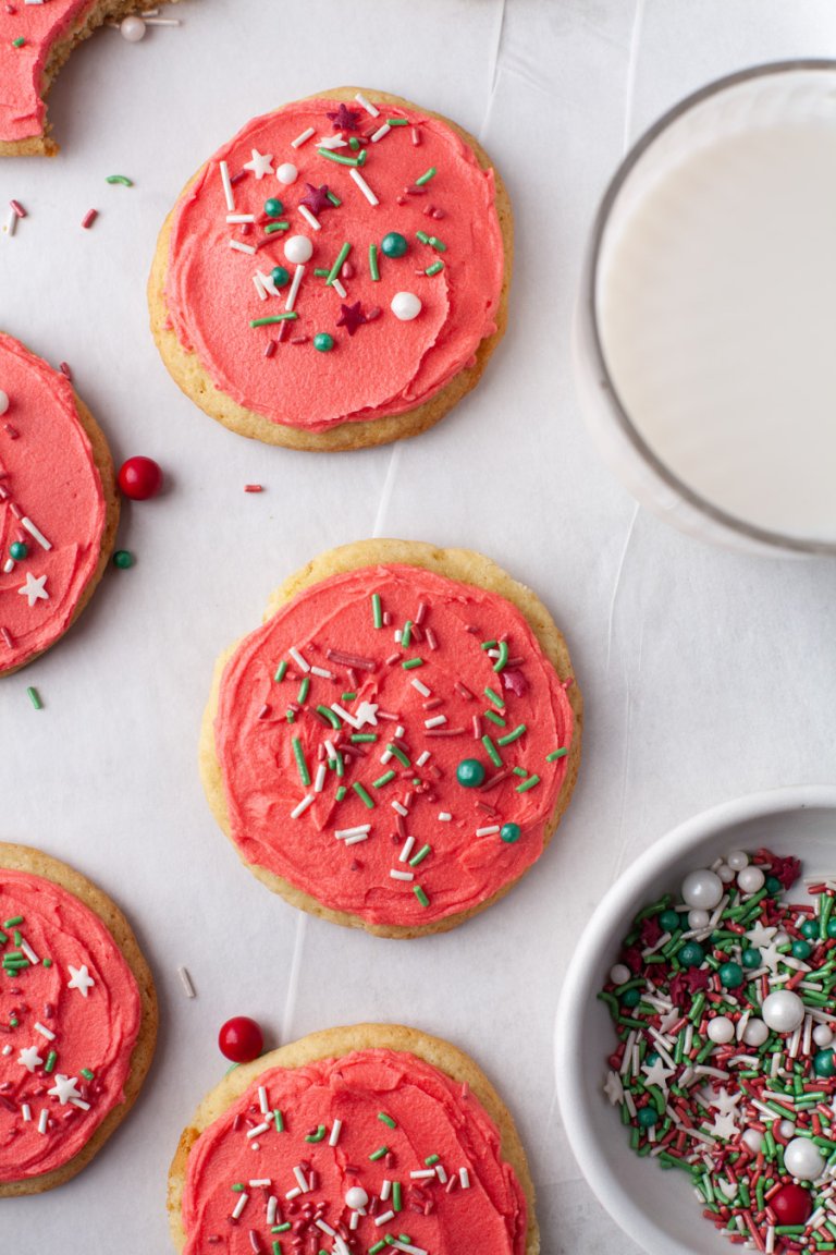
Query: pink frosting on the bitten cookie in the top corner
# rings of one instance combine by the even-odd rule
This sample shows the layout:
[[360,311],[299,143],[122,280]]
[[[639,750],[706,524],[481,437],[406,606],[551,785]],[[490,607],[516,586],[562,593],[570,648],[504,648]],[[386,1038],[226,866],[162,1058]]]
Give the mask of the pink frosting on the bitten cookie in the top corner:
[[[95,4],[9,0],[0,5],[0,141],[31,139],[43,133],[43,75],[53,44],[65,38]],[[20,48],[14,46],[18,39],[25,40]]]

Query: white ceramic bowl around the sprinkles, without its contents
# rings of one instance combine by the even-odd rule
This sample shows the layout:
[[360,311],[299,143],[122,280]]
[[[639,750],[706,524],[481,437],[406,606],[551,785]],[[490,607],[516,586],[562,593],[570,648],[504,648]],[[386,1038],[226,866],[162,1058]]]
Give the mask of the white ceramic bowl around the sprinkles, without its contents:
[[[560,995],[555,1062],[569,1142],[603,1206],[648,1255],[731,1255],[736,1247],[702,1217],[684,1172],[666,1171],[630,1151],[618,1107],[603,1093],[615,1034],[607,1007],[595,995],[642,906],[676,891],[694,867],[729,850],[758,846],[796,855],[802,876],[836,873],[836,787],[756,793],[706,811],[657,841],[598,905]],[[795,892],[803,896],[803,886],[797,885]]]

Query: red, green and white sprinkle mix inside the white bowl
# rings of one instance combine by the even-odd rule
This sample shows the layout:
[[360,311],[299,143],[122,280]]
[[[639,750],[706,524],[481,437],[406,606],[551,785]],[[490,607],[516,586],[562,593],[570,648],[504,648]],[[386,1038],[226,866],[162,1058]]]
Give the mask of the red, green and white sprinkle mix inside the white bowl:
[[630,1146],[766,1255],[836,1251],[836,881],[732,851],[637,915],[599,996]]

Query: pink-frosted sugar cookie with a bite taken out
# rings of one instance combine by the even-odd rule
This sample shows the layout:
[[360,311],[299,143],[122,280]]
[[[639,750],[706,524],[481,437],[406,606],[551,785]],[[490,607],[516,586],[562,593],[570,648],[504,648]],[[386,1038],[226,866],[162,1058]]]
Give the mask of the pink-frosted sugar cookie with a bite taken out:
[[46,94],[76,44],[137,0],[14,0],[0,6],[0,157],[53,157]]

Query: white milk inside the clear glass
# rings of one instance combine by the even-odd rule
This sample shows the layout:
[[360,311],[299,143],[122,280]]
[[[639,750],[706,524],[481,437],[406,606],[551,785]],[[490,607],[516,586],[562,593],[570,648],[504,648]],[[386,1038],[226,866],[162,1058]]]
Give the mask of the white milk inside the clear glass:
[[828,100],[662,162],[610,220],[595,304],[614,390],[663,466],[736,520],[833,542]]

